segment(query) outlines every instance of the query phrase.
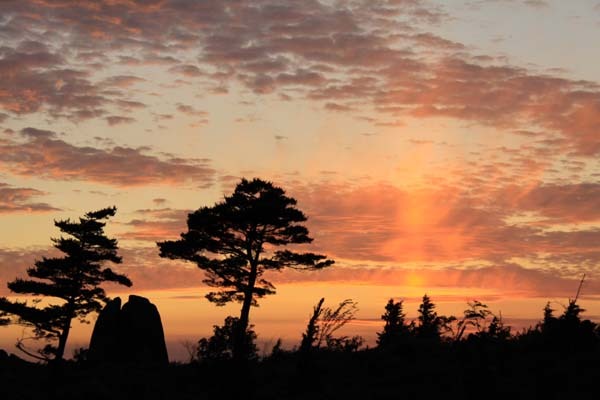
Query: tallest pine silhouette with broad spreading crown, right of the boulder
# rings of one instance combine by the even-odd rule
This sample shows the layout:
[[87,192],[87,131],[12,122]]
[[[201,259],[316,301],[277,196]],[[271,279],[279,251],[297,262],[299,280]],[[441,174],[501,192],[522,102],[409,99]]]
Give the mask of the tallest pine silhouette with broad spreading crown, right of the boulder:
[[283,189],[260,179],[242,179],[223,201],[189,214],[188,231],[181,239],[157,243],[161,257],[191,261],[205,271],[204,283],[219,289],[207,295],[209,301],[242,303],[239,331],[234,335],[236,358],[245,358],[243,337],[250,307],[275,293],[273,284],[263,278],[266,271],[333,264],[323,255],[277,250],[312,241],[302,225],[305,221],[296,200]]

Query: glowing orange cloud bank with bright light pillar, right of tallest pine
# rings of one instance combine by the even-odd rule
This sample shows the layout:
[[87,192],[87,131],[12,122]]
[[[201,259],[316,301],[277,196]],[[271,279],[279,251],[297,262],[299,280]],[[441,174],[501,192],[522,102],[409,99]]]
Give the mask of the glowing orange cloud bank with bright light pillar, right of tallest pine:
[[[600,239],[598,230],[553,225],[597,220],[595,211],[585,212],[600,198],[589,185],[526,186],[515,196],[517,190],[501,184],[475,194],[452,187],[409,191],[385,184],[320,184],[293,186],[289,192],[309,216],[313,246],[334,258],[460,264],[513,257],[540,261],[552,255],[567,262],[570,254],[587,263],[598,260],[593,244]],[[554,192],[561,195],[542,202]],[[531,211],[546,216],[546,223],[518,220]]]

